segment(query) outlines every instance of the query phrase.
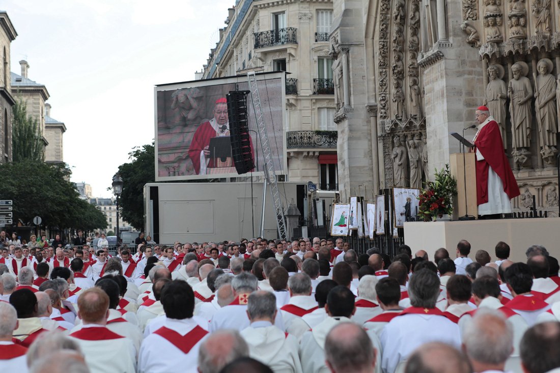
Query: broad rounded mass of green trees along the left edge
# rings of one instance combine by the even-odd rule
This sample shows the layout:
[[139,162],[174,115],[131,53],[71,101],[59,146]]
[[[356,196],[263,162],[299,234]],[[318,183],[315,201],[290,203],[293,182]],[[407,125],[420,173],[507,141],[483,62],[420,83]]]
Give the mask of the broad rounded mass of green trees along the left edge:
[[50,228],[103,229],[105,216],[95,206],[80,199],[68,181],[66,165],[50,165],[38,161],[21,161],[0,165],[4,175],[0,195],[13,201],[13,218],[30,223],[40,216]]

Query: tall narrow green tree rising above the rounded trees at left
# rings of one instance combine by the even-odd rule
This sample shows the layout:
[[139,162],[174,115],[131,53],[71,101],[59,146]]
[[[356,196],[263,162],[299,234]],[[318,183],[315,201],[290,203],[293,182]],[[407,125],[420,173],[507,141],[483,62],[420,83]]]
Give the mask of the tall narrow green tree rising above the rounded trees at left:
[[27,115],[24,99],[21,97],[12,106],[12,161],[32,160],[43,162],[44,143],[41,139],[36,118]]

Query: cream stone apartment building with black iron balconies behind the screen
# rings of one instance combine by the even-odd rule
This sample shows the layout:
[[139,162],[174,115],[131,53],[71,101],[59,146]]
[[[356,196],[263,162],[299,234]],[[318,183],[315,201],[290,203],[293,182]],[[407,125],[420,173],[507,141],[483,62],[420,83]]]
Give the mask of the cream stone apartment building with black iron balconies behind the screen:
[[287,180],[324,190],[338,188],[332,21],[332,0],[237,1],[198,74],[286,71]]

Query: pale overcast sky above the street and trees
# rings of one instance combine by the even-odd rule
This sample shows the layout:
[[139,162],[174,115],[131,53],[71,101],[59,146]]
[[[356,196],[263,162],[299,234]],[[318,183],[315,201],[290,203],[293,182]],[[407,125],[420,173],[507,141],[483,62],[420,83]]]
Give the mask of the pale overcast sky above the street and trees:
[[4,0],[17,38],[11,70],[30,65],[50,116],[64,122],[72,181],[110,197],[134,146],[154,137],[153,86],[194,80],[235,0]]

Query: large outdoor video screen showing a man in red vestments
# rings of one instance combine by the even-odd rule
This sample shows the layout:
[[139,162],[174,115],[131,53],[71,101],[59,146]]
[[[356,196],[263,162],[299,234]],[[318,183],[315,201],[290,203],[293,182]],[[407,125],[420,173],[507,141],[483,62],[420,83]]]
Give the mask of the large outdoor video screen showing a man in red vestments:
[[[274,170],[282,174],[287,169],[284,73],[257,74],[256,80]],[[231,157],[226,95],[236,89],[249,91],[246,76],[155,87],[156,181],[250,175],[238,175]],[[253,175],[262,175],[264,155],[251,94],[247,108]]]

